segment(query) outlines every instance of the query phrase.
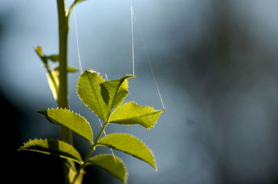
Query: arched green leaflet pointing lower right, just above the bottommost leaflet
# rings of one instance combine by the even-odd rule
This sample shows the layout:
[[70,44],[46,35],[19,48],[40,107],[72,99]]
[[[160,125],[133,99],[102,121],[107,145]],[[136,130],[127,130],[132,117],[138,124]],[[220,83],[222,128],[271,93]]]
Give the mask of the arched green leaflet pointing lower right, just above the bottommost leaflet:
[[144,142],[142,142],[142,140],[131,136],[130,134],[109,134],[101,138],[97,142],[97,145],[123,151],[126,154],[130,154],[131,156],[135,156],[136,158],[149,163],[149,165],[152,165],[152,167],[156,169],[156,161],[154,160],[152,151],[144,144]]

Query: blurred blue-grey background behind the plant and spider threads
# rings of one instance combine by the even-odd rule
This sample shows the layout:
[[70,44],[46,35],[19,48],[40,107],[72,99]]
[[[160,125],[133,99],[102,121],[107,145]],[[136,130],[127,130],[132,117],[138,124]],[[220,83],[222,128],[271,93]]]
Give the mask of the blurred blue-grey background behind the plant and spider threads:
[[[133,0],[132,5],[137,78],[130,80],[126,100],[162,109],[149,57],[167,109],[151,130],[108,126],[107,133],[138,136],[156,156],[158,172],[115,151],[129,169],[129,183],[278,183],[278,1]],[[128,0],[76,6],[83,69],[109,79],[132,73],[130,6]],[[73,18],[69,62],[79,66]],[[63,183],[58,158],[17,152],[28,139],[59,138],[59,127],[35,113],[56,102],[33,52],[37,45],[47,55],[58,52],[57,25],[54,0],[0,1],[2,181],[8,183]],[[76,96],[78,75],[70,74],[70,109],[97,132],[97,117]],[[74,138],[84,155],[89,145]],[[120,181],[90,166],[84,183]]]

